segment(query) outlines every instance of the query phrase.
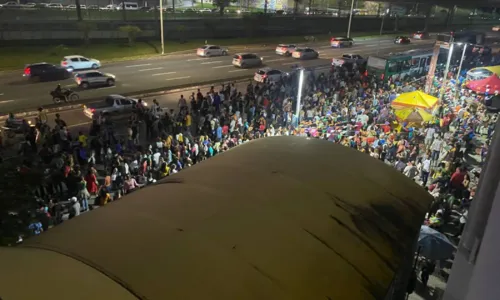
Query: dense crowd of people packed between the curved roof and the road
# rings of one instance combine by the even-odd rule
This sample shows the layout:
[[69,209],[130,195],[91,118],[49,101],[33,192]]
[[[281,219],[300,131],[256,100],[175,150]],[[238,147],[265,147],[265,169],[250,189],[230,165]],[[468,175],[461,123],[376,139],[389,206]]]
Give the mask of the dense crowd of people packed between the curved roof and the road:
[[[116,135],[107,115],[94,119],[88,133],[72,136],[57,114],[49,128],[40,109],[36,126],[25,125],[19,148],[24,168],[47,173],[28,229],[40,234],[66,216],[107,205],[249,140],[299,135],[339,143],[394,166],[436,199],[426,224],[442,230],[458,212],[455,234],[460,235],[496,123],[477,95],[441,87],[436,80],[431,93],[444,95],[435,122],[406,123],[397,119],[391,102],[401,93],[422,90],[423,80],[381,82],[356,67],[335,67],[322,74],[306,71],[297,118],[297,82],[298,73],[292,72],[279,82],[249,82],[244,90],[235,84],[198,90],[181,96],[177,108],[161,116],[153,101],[148,110],[141,106],[130,116],[126,136]],[[477,165],[471,164],[475,155]]]

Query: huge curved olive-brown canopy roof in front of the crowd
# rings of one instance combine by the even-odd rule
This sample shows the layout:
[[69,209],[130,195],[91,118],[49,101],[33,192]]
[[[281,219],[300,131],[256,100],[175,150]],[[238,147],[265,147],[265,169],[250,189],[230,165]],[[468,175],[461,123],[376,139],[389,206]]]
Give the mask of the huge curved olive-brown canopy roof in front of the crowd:
[[1,252],[0,290],[42,300],[383,299],[431,201],[356,150],[265,138]]

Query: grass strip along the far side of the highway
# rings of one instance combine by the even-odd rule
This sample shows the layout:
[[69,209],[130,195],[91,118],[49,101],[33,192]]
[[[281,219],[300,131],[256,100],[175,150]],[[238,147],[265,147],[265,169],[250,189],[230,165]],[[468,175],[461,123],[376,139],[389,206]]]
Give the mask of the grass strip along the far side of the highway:
[[[316,42],[324,41],[328,45],[331,36],[338,34],[316,35]],[[378,37],[374,32],[353,33],[354,38]],[[304,36],[239,38],[239,39],[209,39],[207,43],[227,46],[230,52],[243,50],[244,47],[259,47],[277,43],[307,43]],[[192,40],[185,43],[165,41],[165,53],[189,53],[205,43],[205,40]],[[102,62],[134,60],[158,56],[160,44],[157,42],[136,42],[133,46],[122,43],[90,44],[88,46],[17,46],[0,48],[0,71],[20,70],[26,64],[47,62],[59,64],[66,55],[83,55],[99,59]],[[234,51],[231,51],[234,49]],[[194,52],[193,52],[194,53]]]

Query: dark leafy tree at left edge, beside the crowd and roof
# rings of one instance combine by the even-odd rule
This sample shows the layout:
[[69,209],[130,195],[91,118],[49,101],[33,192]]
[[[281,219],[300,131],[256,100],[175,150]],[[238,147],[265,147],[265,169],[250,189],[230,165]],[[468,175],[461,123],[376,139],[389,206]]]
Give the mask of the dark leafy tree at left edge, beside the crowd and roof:
[[28,226],[39,204],[35,190],[43,184],[43,173],[18,159],[0,163],[0,245],[14,245],[19,236],[29,236]]

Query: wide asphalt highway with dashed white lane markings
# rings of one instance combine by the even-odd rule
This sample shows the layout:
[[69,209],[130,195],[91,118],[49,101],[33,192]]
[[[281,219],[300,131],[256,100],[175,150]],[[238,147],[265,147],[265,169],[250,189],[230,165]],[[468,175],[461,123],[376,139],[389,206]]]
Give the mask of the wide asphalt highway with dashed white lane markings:
[[[330,64],[332,58],[343,53],[354,53],[367,57],[377,53],[387,54],[409,49],[430,48],[433,42],[433,40],[412,41],[410,45],[395,45],[392,39],[385,37],[381,40],[356,41],[350,49],[332,49],[329,46],[329,41],[324,41],[309,45],[320,52],[320,58],[308,61],[298,61],[291,57],[276,55],[274,53],[276,45],[262,47],[257,51],[254,48],[253,51],[249,50],[248,52],[257,53],[263,57],[264,65],[267,67],[287,71],[291,70],[291,66],[294,64],[303,67],[326,66]],[[252,77],[257,68],[239,69],[232,66],[232,55],[235,53],[231,51],[231,48],[229,48],[229,52],[228,56],[200,58],[193,51],[192,55],[164,56],[104,65],[101,71],[116,75],[116,86],[89,90],[79,90],[72,79],[59,82],[31,83],[22,77],[22,72],[19,74],[7,73],[0,77],[0,115],[51,105],[52,98],[49,92],[58,83],[64,87],[75,89],[79,93],[80,99],[84,100],[100,98],[109,94],[140,93],[146,90],[195,85],[200,82],[222,82],[230,81],[235,77]],[[94,58],[99,59],[99,57]]]

